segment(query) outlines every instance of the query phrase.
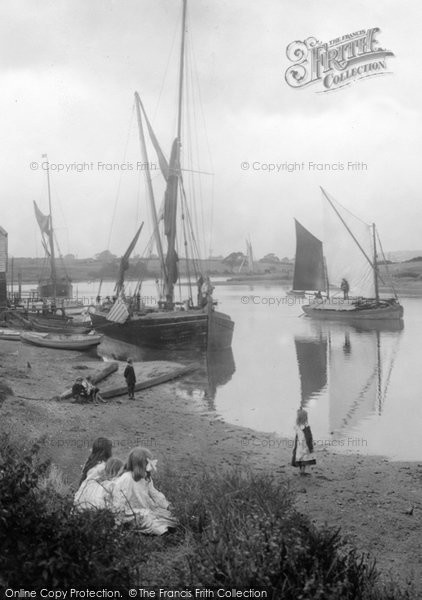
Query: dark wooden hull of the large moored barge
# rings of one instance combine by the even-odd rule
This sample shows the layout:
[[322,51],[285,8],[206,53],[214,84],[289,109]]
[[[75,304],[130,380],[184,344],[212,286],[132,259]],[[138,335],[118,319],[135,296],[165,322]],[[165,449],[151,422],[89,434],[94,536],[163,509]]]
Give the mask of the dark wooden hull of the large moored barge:
[[108,337],[146,347],[230,348],[234,328],[224,313],[195,309],[134,316],[123,324],[107,321],[106,314],[95,312],[91,320],[95,329]]

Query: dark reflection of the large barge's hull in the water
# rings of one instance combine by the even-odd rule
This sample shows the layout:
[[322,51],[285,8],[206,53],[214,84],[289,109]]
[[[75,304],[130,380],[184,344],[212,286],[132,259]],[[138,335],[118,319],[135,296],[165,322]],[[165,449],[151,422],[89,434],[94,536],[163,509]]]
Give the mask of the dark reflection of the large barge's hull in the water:
[[217,389],[228,383],[236,370],[233,351],[203,351],[180,347],[147,348],[134,346],[104,337],[98,347],[98,356],[113,360],[153,361],[163,360],[192,365],[192,372],[178,380],[178,392],[186,397],[203,400],[209,410],[215,410]]

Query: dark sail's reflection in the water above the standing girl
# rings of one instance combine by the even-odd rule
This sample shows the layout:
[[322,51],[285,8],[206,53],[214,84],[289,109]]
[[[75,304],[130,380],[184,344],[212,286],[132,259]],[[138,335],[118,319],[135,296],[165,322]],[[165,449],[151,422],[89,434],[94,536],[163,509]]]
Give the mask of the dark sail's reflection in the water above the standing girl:
[[295,338],[301,386],[301,407],[327,384],[327,340]]

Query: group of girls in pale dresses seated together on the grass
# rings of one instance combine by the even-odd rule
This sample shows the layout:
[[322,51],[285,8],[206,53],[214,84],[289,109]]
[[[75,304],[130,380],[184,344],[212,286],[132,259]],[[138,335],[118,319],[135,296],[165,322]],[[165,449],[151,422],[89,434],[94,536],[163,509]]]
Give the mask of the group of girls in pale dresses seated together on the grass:
[[151,479],[156,464],[151,452],[141,447],[134,448],[123,463],[112,457],[110,440],[96,439],[75,494],[76,508],[108,508],[119,521],[132,522],[146,534],[162,535],[174,529],[177,522],[170,503]]

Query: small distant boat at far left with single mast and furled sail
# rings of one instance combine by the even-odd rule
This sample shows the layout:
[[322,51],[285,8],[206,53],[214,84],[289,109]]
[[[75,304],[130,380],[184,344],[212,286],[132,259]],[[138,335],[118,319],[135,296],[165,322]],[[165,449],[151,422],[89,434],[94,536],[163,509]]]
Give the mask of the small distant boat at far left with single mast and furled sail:
[[56,244],[53,228],[53,211],[51,207],[50,166],[46,155],[43,155],[47,165],[47,189],[49,214],[44,215],[34,201],[35,217],[41,230],[41,242],[49,262],[50,273],[47,277],[40,277],[38,295],[40,298],[72,298],[72,282],[63,263],[63,274],[59,276],[56,265]]

